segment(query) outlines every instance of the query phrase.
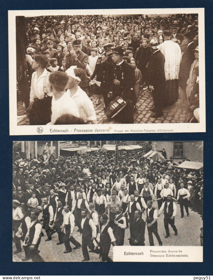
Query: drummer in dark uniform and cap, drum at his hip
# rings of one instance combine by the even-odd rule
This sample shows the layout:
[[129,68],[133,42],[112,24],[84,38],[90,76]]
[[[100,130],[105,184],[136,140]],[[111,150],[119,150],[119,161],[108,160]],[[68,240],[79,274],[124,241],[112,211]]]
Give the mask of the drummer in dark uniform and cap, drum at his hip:
[[135,102],[134,69],[123,60],[124,50],[122,48],[114,48],[112,50],[113,65],[113,96],[123,95],[129,100],[128,105],[119,113],[118,118],[120,123],[134,123],[133,107]]

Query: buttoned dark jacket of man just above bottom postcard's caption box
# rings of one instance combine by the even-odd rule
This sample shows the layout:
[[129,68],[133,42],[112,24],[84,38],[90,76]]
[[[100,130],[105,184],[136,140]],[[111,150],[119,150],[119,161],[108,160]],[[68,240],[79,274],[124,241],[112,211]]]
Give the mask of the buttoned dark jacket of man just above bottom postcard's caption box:
[[141,218],[138,221],[133,220],[130,225],[131,238],[138,241],[138,246],[143,246],[143,242],[145,241],[145,225],[145,221]]

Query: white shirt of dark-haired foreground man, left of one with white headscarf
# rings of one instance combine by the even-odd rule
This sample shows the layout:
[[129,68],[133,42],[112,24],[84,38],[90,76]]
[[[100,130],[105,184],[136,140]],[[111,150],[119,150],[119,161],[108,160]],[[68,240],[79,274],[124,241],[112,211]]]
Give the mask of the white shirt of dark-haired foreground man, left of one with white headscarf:
[[58,100],[55,100],[55,95],[53,94],[52,99],[52,115],[50,124],[55,124],[56,120],[65,114],[73,115],[79,118],[79,110],[73,99],[71,99],[70,94],[65,92]]

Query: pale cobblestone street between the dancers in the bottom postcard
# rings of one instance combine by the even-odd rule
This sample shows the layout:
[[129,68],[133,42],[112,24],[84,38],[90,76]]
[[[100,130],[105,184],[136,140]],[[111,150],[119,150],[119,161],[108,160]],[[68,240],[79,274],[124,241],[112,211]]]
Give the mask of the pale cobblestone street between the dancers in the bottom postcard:
[[[164,229],[164,214],[161,214],[158,218],[158,233],[162,240],[163,246],[200,246],[200,228],[203,226],[203,221],[197,212],[191,211],[189,208],[189,217],[186,216],[184,212],[184,218],[181,218],[180,206],[177,205],[177,214],[175,217],[175,225],[177,227],[178,235],[175,236],[172,228],[169,226],[170,237],[165,239],[165,229]],[[157,208],[157,202],[153,203],[153,207]],[[185,210],[184,210],[185,211]],[[145,215],[143,214],[143,218]],[[44,230],[43,230],[44,232]],[[125,230],[124,245],[129,245],[128,238],[130,237],[129,228]],[[74,231],[74,238],[81,243],[82,237],[79,232],[77,232],[77,226]],[[39,245],[39,250],[41,257],[45,262],[80,262],[83,259],[82,249],[72,250],[71,253],[64,254],[65,246],[63,244],[56,245],[58,242],[57,234],[52,235],[52,240],[45,242],[46,233],[41,237],[41,243]],[[154,244],[158,246],[157,239],[153,237]],[[72,243],[71,247],[74,245]],[[148,231],[145,230],[145,246],[149,246]],[[13,251],[15,251],[15,244],[13,244]],[[90,262],[99,262],[99,255],[96,253],[89,253]],[[110,250],[109,256],[112,258],[112,248]],[[24,251],[18,254],[13,254],[13,261],[21,262],[22,258],[25,257]],[[29,260],[28,262],[31,262]]]

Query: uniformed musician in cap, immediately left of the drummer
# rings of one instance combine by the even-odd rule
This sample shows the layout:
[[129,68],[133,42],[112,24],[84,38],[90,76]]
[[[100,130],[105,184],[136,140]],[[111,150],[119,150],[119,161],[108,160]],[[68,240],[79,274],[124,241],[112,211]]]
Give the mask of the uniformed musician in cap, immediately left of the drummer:
[[[103,101],[105,108],[108,107],[109,102],[112,98],[108,97],[109,93],[109,87],[110,84],[112,84],[113,81],[113,75],[112,75],[112,68],[113,68],[113,62],[112,62],[112,50],[114,48],[112,43],[107,43],[104,46],[105,55],[102,55],[95,66],[93,75],[91,76],[91,80],[94,79],[94,77],[97,75],[97,81],[101,82],[100,86],[100,93],[103,95]],[[100,62],[100,63],[98,63]]]

